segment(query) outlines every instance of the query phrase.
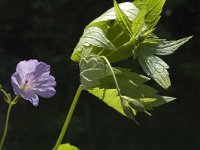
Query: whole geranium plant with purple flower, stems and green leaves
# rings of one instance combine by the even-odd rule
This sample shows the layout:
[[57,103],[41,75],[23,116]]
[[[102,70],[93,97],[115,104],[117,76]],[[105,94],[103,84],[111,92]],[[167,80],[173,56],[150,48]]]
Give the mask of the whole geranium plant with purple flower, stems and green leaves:
[[[82,90],[86,90],[108,106],[132,119],[138,113],[151,116],[151,110],[173,101],[174,97],[162,96],[147,82],[153,79],[164,89],[171,85],[168,69],[160,55],[173,54],[191,36],[168,41],[155,35],[154,30],[161,18],[165,0],[135,0],[118,4],[89,23],[84,29],[71,59],[79,64],[80,86],[54,150],[78,149],[70,144],[61,144],[70,123],[73,111]],[[139,74],[134,67],[124,68],[123,61],[138,61],[144,73]],[[19,97],[38,105],[38,95],[50,98],[55,94],[55,79],[49,75],[49,66],[37,60],[22,61],[12,76],[14,100],[3,89],[5,100],[11,106]],[[9,117],[8,117],[9,118]],[[7,132],[6,120],[5,134]]]

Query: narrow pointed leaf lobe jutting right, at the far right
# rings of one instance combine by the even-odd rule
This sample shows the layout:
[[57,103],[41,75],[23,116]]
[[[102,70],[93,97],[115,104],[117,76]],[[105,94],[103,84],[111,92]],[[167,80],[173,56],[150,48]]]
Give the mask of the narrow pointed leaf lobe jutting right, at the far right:
[[173,54],[181,45],[188,42],[192,36],[182,38],[176,41],[160,40],[155,48],[157,55],[170,55]]

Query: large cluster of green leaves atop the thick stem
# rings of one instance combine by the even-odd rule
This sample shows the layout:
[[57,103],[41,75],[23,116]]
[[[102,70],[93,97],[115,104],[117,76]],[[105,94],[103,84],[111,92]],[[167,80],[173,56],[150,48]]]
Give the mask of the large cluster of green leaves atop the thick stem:
[[110,63],[132,57],[144,72],[167,89],[169,66],[157,55],[169,55],[191,37],[177,41],[158,38],[153,31],[160,19],[165,0],[136,0],[114,7],[92,21],[77,44],[71,59],[79,62],[81,85],[122,115],[135,120],[138,112],[174,100],[160,96],[146,85],[150,78],[134,68],[112,67]]

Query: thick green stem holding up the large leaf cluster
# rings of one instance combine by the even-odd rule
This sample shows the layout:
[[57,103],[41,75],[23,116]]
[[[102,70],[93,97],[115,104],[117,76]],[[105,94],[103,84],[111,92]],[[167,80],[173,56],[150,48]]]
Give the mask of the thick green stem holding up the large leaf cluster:
[[63,128],[62,128],[62,130],[60,132],[60,135],[58,137],[58,140],[57,140],[56,145],[54,146],[53,150],[57,150],[59,145],[62,142],[62,139],[63,139],[63,137],[64,137],[64,135],[65,135],[65,133],[67,131],[68,125],[69,125],[69,123],[71,121],[71,117],[73,115],[74,109],[75,109],[76,104],[78,102],[78,99],[80,97],[81,91],[82,91],[82,87],[79,85],[78,90],[76,91],[76,95],[74,96],[73,102],[72,102],[71,107],[69,109],[67,118],[66,118],[65,123],[63,125]]

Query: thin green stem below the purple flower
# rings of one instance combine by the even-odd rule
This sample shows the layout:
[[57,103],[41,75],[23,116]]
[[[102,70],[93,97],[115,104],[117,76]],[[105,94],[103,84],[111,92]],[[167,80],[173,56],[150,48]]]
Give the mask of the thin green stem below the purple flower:
[[6,138],[6,134],[7,134],[7,131],[8,131],[8,122],[9,122],[9,118],[10,118],[10,112],[11,112],[12,105],[13,104],[10,101],[9,102],[9,106],[8,106],[8,112],[7,112],[7,115],[6,115],[6,124],[5,124],[4,132],[3,132],[3,137],[1,139],[0,150],[2,150],[2,148],[3,148],[3,144],[4,144],[4,141],[5,141],[5,138]]

